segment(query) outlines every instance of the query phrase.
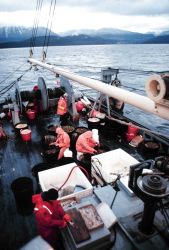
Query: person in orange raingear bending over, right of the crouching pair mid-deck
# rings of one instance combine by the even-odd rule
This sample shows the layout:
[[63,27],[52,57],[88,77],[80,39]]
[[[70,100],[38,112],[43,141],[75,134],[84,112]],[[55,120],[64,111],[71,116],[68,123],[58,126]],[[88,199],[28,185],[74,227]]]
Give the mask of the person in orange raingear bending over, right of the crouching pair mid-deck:
[[84,153],[94,154],[97,150],[94,149],[99,144],[98,141],[94,140],[92,131],[87,131],[81,134],[76,142],[77,158]]

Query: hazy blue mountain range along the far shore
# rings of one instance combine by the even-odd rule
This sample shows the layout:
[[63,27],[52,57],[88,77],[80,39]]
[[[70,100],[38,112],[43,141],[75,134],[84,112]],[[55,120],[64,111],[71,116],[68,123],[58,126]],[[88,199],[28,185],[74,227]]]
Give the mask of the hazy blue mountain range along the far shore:
[[[43,46],[46,28],[38,28],[35,46]],[[0,27],[0,48],[29,47],[32,29],[25,27]],[[103,28],[99,30],[72,30],[56,34],[50,32],[49,46],[89,44],[139,44],[169,43],[169,31],[155,35],[126,30]]]

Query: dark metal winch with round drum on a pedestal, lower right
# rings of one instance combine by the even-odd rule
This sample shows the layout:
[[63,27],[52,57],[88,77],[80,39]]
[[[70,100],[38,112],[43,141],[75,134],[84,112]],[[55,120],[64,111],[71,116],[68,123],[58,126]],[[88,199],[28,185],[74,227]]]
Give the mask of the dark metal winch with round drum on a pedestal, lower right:
[[147,160],[130,167],[129,187],[144,202],[144,211],[138,227],[145,235],[154,232],[155,212],[163,206],[163,198],[169,196],[169,181],[167,175],[157,168],[157,160]]

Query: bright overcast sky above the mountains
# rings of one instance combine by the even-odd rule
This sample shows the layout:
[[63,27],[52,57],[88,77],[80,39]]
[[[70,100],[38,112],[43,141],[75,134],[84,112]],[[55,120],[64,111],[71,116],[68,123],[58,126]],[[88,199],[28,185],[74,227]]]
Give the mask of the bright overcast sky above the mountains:
[[[40,26],[47,26],[49,3],[43,0]],[[0,0],[0,25],[32,27],[35,9],[36,0]],[[54,32],[105,27],[144,33],[169,30],[169,0],[56,0]]]

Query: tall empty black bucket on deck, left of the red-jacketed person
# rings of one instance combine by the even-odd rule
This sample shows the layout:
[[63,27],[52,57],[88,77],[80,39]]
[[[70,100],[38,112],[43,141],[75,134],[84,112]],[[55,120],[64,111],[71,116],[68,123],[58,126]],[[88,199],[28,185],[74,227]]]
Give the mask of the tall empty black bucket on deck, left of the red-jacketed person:
[[33,210],[33,181],[28,177],[20,177],[11,184],[18,212],[31,213]]

